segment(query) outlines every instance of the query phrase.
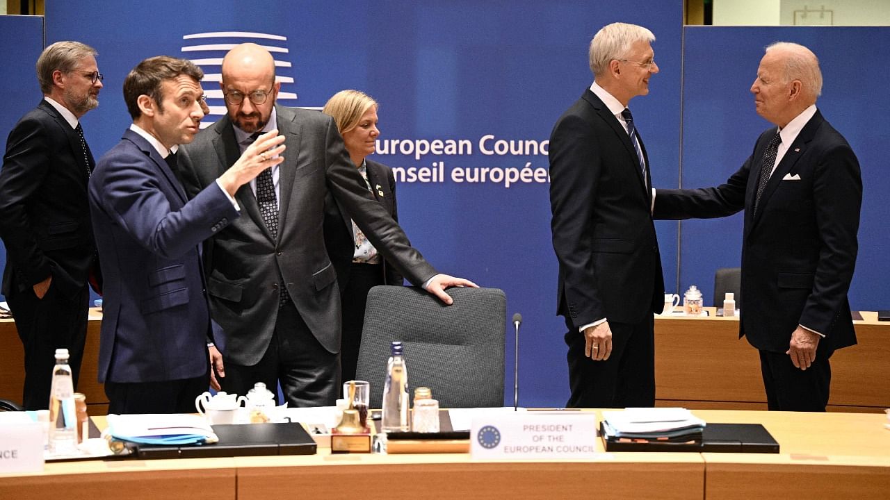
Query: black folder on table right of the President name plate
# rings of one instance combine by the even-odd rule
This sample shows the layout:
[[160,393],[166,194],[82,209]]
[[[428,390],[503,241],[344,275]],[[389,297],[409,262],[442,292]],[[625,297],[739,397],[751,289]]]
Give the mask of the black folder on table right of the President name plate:
[[759,423],[708,423],[701,440],[684,443],[663,440],[606,438],[600,425],[606,451],[694,451],[699,453],[779,453],[779,443]]

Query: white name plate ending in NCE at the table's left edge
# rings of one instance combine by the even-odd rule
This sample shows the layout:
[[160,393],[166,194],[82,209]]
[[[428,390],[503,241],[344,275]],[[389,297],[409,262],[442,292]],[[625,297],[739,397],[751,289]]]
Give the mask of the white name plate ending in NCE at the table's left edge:
[[24,412],[0,412],[0,473],[44,470],[44,432]]

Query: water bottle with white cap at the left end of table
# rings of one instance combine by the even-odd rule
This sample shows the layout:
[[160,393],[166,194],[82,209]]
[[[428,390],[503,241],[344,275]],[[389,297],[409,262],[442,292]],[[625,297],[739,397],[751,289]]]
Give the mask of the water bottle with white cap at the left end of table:
[[57,349],[50,390],[49,448],[53,455],[77,453],[77,406],[74,400],[74,379],[68,364],[68,350]]

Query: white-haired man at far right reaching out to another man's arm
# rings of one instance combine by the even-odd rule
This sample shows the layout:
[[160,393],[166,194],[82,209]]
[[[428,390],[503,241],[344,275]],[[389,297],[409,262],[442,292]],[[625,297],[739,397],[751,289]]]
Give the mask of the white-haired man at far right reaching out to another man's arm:
[[858,249],[859,162],[816,109],[819,60],[803,45],[766,48],[751,85],[757,114],[776,125],[725,184],[657,190],[657,219],[745,209],[740,336],[760,351],[771,410],[825,411],[831,354],[854,345],[846,293]]

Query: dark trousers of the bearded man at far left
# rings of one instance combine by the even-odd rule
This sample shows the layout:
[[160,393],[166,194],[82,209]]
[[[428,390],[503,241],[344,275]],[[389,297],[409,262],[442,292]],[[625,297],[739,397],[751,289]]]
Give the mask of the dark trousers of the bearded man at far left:
[[84,359],[89,289],[84,286],[77,294],[66,296],[51,283],[43,299],[38,299],[29,288],[6,300],[25,351],[22,405],[27,410],[46,409],[50,403],[56,349],[68,349],[77,389],[80,363]]

